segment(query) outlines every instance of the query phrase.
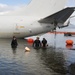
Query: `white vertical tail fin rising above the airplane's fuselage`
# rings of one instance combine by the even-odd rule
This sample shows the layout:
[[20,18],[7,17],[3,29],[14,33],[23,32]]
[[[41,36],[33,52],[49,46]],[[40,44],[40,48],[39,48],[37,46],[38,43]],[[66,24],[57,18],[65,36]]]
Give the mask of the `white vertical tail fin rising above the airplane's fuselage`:
[[37,16],[44,18],[64,8],[66,0],[32,0],[27,7],[9,15]]

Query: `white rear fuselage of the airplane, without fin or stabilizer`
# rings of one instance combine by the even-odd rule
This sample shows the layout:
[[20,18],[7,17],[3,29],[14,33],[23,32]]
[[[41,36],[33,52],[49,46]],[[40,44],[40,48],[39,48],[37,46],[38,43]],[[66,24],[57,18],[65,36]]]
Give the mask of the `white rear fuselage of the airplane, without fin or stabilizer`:
[[44,25],[34,19],[25,16],[0,16],[0,38],[24,38],[51,30],[50,24]]

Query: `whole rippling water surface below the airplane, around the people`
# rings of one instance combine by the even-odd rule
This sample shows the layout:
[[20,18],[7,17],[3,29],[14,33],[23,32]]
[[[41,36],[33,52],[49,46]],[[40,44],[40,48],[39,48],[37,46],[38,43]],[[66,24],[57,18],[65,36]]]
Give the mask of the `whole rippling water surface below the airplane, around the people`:
[[11,39],[0,39],[0,75],[75,75],[75,51],[65,44],[74,37],[53,37],[47,37],[47,49],[38,50],[23,39],[18,39],[17,48],[11,47]]

